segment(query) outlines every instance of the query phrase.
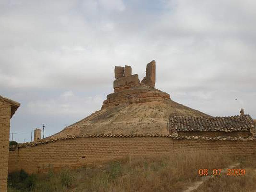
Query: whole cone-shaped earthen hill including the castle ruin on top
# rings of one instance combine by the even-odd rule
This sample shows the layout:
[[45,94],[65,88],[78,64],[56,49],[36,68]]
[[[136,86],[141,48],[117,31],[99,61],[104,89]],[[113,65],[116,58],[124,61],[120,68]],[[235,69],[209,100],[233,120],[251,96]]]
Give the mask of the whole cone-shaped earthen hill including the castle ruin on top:
[[[129,69],[125,73],[125,69]],[[114,93],[107,96],[99,111],[72,124],[52,137],[79,134],[167,134],[168,117],[209,116],[170,99],[155,89],[155,61],[147,65],[140,82],[131,67],[115,68]],[[127,75],[128,74],[128,75]]]

